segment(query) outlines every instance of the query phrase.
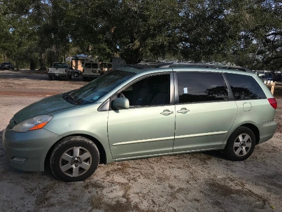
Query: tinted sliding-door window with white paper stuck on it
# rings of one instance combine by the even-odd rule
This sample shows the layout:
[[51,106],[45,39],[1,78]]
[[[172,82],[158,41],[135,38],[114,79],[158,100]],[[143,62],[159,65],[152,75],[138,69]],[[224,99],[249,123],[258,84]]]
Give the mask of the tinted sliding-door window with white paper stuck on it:
[[177,79],[179,103],[228,100],[220,73],[177,73]]

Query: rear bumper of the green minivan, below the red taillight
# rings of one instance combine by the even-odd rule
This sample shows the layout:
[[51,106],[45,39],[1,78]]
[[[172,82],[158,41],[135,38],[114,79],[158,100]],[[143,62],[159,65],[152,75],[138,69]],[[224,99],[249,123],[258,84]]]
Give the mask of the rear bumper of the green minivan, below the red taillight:
[[259,142],[258,144],[261,144],[263,142],[266,142],[270,140],[276,131],[277,123],[275,121],[268,121],[260,123],[257,126],[259,130]]

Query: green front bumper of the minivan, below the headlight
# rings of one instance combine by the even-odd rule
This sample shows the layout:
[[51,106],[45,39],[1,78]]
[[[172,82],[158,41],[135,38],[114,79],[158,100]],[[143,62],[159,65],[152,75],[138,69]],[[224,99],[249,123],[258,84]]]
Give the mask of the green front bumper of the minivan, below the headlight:
[[[3,133],[3,148],[8,164],[24,171],[44,171],[46,155],[61,136],[45,129],[27,132],[14,132],[9,125]],[[25,162],[12,159],[27,158]]]

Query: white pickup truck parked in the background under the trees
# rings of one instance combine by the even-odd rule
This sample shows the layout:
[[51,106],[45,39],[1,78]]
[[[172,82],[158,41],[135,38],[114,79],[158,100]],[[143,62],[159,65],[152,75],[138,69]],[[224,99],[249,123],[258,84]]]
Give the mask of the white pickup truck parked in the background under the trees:
[[71,70],[67,63],[53,63],[52,67],[48,68],[48,78],[64,78],[71,79]]

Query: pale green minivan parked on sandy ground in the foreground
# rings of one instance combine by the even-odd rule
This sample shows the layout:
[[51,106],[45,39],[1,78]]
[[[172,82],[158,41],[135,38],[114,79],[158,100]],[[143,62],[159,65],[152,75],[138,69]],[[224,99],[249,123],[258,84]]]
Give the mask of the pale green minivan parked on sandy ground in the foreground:
[[221,150],[247,159],[271,139],[277,102],[256,73],[221,67],[126,66],[18,111],[7,162],[82,181],[99,163]]

